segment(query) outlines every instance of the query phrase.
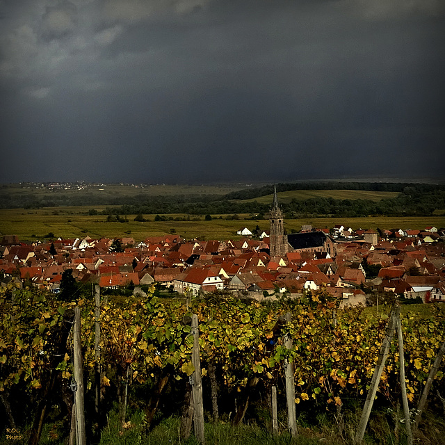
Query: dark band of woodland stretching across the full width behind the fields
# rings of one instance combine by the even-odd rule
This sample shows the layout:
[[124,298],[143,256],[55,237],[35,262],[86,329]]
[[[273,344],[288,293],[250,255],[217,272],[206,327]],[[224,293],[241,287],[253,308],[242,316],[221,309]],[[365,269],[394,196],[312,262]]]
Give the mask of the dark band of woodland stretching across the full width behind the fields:
[[[190,215],[252,213],[256,218],[264,216],[270,204],[257,200],[273,193],[273,185],[249,187],[225,195],[203,193],[181,194],[181,188],[172,188],[168,195],[144,195],[142,192],[101,195],[95,191],[79,193],[35,193],[23,189],[13,196],[0,191],[0,208],[37,209],[60,206],[106,205],[104,215],[188,213]],[[305,216],[333,216],[355,218],[361,216],[431,216],[445,211],[445,186],[435,184],[401,184],[384,182],[304,182],[276,184],[277,193],[289,191],[325,191],[325,196],[310,199],[291,199],[281,202],[286,218]],[[334,191],[395,192],[394,197],[371,199],[339,199]],[[177,191],[177,193],[176,193]],[[333,197],[334,196],[334,197]]]

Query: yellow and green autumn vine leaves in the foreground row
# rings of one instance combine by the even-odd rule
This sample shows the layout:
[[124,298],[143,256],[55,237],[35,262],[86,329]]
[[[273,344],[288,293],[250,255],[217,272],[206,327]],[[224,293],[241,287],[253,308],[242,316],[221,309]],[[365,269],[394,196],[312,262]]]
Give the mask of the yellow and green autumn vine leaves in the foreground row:
[[[80,300],[82,341],[87,369],[95,366],[94,307]],[[54,329],[72,304],[61,305],[54,296],[24,290],[0,291],[0,391],[16,387],[34,399],[40,397],[40,381],[47,367]],[[202,375],[207,365],[218,367],[220,386],[239,391],[252,377],[265,384],[277,382],[284,360],[292,359],[295,369],[296,402],[304,410],[305,401],[341,405],[342,399],[366,396],[386,320],[362,309],[333,310],[337,301],[323,291],[306,299],[262,305],[256,301],[224,298],[220,302],[195,300],[186,307],[180,300],[161,302],[151,294],[129,298],[122,304],[102,305],[102,384],[118,385],[129,371],[131,385],[143,384],[160,375],[165,367],[177,380],[193,373],[191,327],[182,323],[184,315],[197,314],[200,323]],[[282,338],[273,350],[266,349],[280,315],[291,312],[292,321],[282,336],[293,339],[293,350]],[[444,341],[444,312],[435,309],[430,318],[408,313],[402,318],[405,342],[405,376],[410,402],[419,397],[423,382]],[[69,348],[70,351],[70,348]],[[72,373],[71,353],[60,357],[57,369],[63,378]],[[398,347],[391,354],[380,382],[383,401],[398,397]],[[113,372],[117,371],[117,372]],[[93,381],[90,372],[87,390]],[[442,369],[437,374],[442,379]]]

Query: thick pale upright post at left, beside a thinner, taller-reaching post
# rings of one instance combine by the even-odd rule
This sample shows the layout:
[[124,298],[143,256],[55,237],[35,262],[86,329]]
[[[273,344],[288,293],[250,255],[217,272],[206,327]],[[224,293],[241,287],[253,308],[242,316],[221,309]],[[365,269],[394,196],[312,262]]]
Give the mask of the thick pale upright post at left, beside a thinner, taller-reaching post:
[[74,321],[74,380],[76,392],[74,395],[74,407],[76,410],[76,445],[86,445],[85,431],[85,407],[83,396],[83,364],[81,346],[81,309],[74,309],[76,318]]

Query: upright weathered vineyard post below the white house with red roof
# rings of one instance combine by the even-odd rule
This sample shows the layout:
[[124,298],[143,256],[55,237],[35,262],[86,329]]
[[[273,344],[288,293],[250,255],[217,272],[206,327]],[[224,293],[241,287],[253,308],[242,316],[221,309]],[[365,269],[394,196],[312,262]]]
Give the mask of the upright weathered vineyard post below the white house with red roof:
[[197,315],[192,316],[193,352],[192,363],[195,371],[192,374],[193,388],[193,424],[195,427],[195,437],[201,444],[205,443],[204,437],[204,406],[202,405],[202,381],[201,381],[201,361],[200,361],[200,331],[197,325]]

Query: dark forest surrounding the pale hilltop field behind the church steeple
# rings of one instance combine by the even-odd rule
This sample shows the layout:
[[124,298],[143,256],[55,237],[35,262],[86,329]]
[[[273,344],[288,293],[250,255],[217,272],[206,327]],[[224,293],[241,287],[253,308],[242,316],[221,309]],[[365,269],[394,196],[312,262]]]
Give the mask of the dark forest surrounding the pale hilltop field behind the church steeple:
[[[307,200],[292,199],[282,202],[281,207],[286,218],[302,218],[305,216],[333,216],[355,218],[360,216],[431,216],[445,209],[445,187],[429,184],[366,184],[362,183],[327,183],[320,184],[277,184],[277,193],[291,190],[341,191],[341,190],[371,190],[396,191],[393,198],[375,200],[342,200],[334,197],[316,197]],[[348,186],[349,188],[339,188]],[[352,187],[357,188],[352,188]],[[319,187],[319,188],[316,188]],[[252,200],[273,193],[273,186],[250,188],[245,191],[228,193],[224,197],[206,197],[202,200],[178,201],[175,197],[153,197],[147,202],[124,204],[118,209],[107,208],[104,214],[133,214],[133,213],[188,213],[193,215],[222,214],[222,213],[253,213],[257,218],[266,215],[270,203]],[[271,201],[270,201],[271,202]]]

